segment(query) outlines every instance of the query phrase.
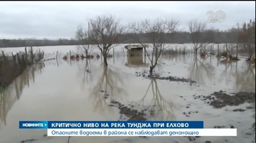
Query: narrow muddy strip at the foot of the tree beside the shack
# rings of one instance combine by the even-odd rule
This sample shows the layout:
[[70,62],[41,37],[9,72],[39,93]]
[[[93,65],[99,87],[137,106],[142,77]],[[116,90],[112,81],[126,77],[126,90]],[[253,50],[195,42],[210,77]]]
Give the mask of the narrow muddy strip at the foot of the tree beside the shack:
[[[170,73],[170,72],[168,72]],[[137,77],[144,77],[145,79],[159,79],[159,80],[169,80],[170,82],[188,82],[190,84],[192,83],[196,83],[194,80],[191,80],[191,79],[185,79],[184,77],[180,78],[180,77],[176,77],[176,76],[162,76],[161,74],[157,74],[157,73],[154,73],[152,75],[150,75],[148,73],[148,71],[143,71],[143,73],[140,73],[140,72],[135,72],[135,76]]]

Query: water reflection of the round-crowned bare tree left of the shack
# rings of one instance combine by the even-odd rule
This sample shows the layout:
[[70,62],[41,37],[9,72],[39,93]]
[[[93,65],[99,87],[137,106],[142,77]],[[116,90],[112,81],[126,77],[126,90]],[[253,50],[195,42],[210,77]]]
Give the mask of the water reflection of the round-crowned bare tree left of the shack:
[[[97,74],[97,71],[100,72]],[[120,69],[112,66],[101,66],[99,69],[93,71],[94,76],[97,77],[96,83],[91,88],[90,99],[97,111],[110,111],[110,102],[112,100],[119,101],[122,97],[127,97],[125,91],[125,82],[127,75]]]

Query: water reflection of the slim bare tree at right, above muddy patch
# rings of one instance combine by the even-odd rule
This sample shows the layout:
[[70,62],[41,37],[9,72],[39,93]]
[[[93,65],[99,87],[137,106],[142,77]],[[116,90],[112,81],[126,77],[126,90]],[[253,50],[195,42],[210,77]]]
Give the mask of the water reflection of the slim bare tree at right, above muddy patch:
[[189,78],[198,83],[205,83],[212,80],[212,72],[215,68],[206,61],[206,58],[194,59],[194,63],[188,68]]

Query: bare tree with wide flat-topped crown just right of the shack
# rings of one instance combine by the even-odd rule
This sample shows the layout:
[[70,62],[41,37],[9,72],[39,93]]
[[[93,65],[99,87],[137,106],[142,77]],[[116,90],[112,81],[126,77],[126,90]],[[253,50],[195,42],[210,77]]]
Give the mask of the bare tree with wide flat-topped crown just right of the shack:
[[[162,54],[162,51],[166,49],[168,46],[165,45],[165,37],[167,33],[173,33],[177,30],[177,27],[179,27],[179,21],[178,20],[160,20],[156,19],[153,22],[150,22],[149,20],[144,20],[139,23],[131,23],[130,28],[134,30],[134,32],[137,34],[136,39],[138,42],[143,46],[143,48],[146,50],[147,57],[150,61],[150,69],[149,73],[152,76],[153,69],[155,68],[158,58]],[[143,34],[143,39],[141,40],[138,35]],[[146,42],[149,42],[150,48],[152,48],[152,53],[149,55],[147,51]]]

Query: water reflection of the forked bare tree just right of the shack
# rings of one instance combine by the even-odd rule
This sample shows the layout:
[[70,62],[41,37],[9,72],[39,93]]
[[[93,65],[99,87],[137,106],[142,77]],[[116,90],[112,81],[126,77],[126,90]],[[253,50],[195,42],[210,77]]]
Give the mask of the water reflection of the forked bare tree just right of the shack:
[[[149,95],[152,97],[149,97]],[[147,102],[147,98],[150,98],[149,102]],[[175,120],[174,116],[174,103],[172,101],[168,101],[162,96],[156,79],[151,79],[149,86],[147,86],[146,93],[141,98],[141,100],[137,102],[133,102],[135,107],[146,109],[149,112],[147,114],[147,120]]]

